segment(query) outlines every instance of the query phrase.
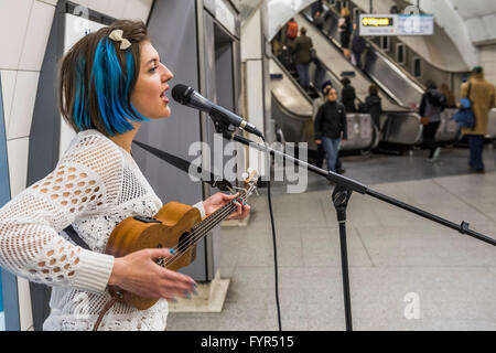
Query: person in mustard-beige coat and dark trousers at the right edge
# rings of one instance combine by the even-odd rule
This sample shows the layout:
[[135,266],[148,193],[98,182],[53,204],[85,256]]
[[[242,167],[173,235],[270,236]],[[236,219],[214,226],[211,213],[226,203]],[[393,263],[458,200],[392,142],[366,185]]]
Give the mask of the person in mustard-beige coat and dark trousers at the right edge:
[[468,87],[475,127],[463,128],[462,132],[466,135],[471,150],[468,165],[476,172],[484,173],[484,136],[487,133],[489,110],[495,106],[495,87],[484,79],[484,69],[481,66],[475,66],[470,79],[462,84],[462,97],[467,97]]

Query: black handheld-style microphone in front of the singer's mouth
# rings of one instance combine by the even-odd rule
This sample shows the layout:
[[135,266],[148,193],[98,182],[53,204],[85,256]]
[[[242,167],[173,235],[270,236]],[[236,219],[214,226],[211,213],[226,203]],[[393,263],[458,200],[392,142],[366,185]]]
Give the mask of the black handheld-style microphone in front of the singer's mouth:
[[174,88],[172,88],[172,98],[182,105],[207,113],[212,118],[214,118],[214,120],[228,122],[237,128],[244,129],[247,132],[255,133],[258,137],[263,138],[263,133],[261,133],[255,125],[249,124],[233,111],[213,104],[188,86],[182,84],[175,85]]

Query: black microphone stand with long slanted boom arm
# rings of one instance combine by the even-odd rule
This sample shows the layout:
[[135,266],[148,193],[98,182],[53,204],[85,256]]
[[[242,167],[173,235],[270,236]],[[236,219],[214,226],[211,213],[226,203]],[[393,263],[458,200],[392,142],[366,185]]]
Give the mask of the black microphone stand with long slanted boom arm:
[[[359,194],[366,194],[373,197],[376,197],[380,201],[395,205],[397,207],[403,208],[406,211],[412,212],[421,217],[428,218],[430,221],[436,222],[443,226],[457,231],[461,234],[466,234],[476,239],[496,246],[496,239],[490,238],[484,234],[477,233],[468,228],[468,223],[463,221],[460,225],[442,217],[439,217],[434,214],[431,214],[421,208],[409,205],[405,202],[396,200],[393,197],[381,194],[377,191],[369,189],[368,186],[337,173],[326,171],[313,164],[309,164],[305,161],[302,161],[298,158],[291,157],[284,152],[274,150],[268,146],[260,145],[258,142],[251,141],[242,136],[235,135],[235,130],[228,124],[225,124],[218,119],[214,119],[215,128],[217,132],[223,133],[223,137],[229,141],[237,141],[242,145],[249,146],[262,152],[269,152],[271,156],[278,156],[284,158],[287,161],[291,161],[298,164],[300,168],[306,168],[308,170],[314,172],[315,174],[322,175],[328,181],[332,181],[336,184],[332,194],[332,202],[334,208],[337,214],[337,222],[339,223],[339,243],[341,243],[341,266],[342,266],[342,275],[343,275],[343,296],[344,296],[344,307],[345,307],[345,321],[346,321],[346,330],[353,331],[352,323],[352,301],[351,301],[351,292],[349,292],[349,275],[348,275],[348,255],[347,255],[347,244],[346,244],[346,208],[348,206],[349,197],[352,193],[355,191]],[[270,170],[269,170],[270,175]],[[270,178],[270,176],[269,176]]]

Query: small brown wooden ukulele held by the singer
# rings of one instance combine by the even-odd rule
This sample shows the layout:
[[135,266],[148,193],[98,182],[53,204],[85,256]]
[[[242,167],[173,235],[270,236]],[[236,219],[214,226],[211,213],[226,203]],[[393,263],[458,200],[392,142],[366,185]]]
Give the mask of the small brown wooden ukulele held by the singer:
[[[196,244],[218,225],[224,218],[236,211],[234,202],[245,202],[256,190],[257,172],[251,171],[245,180],[245,189],[240,189],[238,197],[201,218],[198,208],[179,202],[169,202],[154,217],[132,216],[120,222],[110,234],[106,253],[115,257],[145,248],[166,247],[174,249],[174,255],[159,258],[154,261],[170,270],[177,270],[194,261]],[[234,191],[230,190],[233,193]],[[110,295],[139,310],[145,310],[155,304],[159,299],[143,298],[109,286]]]

